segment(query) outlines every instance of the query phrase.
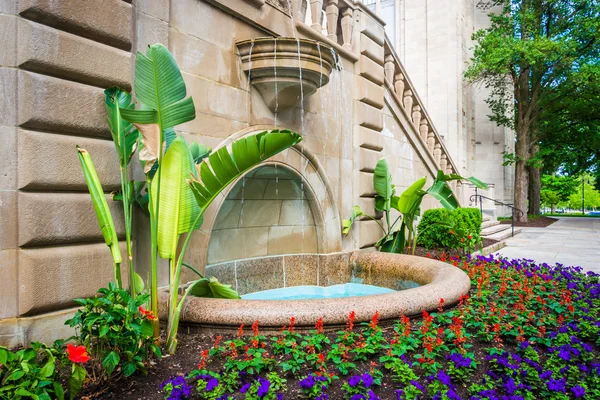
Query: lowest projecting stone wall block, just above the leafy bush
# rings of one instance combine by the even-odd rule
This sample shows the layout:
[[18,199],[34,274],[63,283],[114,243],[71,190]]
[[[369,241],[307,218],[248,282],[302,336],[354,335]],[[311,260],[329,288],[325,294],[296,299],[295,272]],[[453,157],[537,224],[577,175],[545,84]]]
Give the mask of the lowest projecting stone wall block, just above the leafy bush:
[[[125,243],[121,243],[125,254]],[[71,307],[114,279],[110,250],[104,243],[19,250],[19,315]],[[121,267],[123,284],[127,268]]]

